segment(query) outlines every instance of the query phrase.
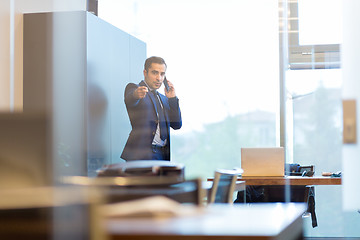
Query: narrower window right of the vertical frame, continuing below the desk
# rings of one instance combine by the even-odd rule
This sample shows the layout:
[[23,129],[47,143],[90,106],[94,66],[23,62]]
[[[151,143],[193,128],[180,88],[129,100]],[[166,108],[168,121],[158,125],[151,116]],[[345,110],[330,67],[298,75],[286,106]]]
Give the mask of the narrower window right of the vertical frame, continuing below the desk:
[[[315,165],[315,174],[342,169],[341,0],[285,0],[282,48],[287,161]],[[284,11],[285,12],[285,11]],[[342,210],[341,186],[316,186],[318,227],[305,236],[359,237],[359,214]]]

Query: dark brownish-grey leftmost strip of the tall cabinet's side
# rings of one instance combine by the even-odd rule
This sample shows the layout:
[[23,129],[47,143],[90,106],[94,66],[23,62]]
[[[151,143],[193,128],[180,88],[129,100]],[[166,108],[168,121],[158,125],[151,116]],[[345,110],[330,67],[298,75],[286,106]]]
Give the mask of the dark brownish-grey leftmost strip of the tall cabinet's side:
[[23,108],[24,111],[45,111],[51,106],[48,96],[52,77],[52,17],[42,14],[24,14],[23,32]]

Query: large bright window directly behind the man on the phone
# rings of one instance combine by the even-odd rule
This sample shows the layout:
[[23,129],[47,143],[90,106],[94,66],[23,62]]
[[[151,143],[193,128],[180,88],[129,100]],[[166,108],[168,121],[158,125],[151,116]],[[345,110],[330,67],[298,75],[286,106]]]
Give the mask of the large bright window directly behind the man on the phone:
[[187,177],[240,167],[241,147],[279,146],[277,1],[99,0],[98,15],[167,61],[183,116],[172,161]]

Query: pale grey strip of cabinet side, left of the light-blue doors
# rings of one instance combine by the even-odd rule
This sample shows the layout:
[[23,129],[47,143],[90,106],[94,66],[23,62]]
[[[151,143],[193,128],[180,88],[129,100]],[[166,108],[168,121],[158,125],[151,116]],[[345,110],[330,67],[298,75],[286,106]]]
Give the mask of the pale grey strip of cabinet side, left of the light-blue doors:
[[54,161],[58,175],[86,174],[86,15],[53,16]]

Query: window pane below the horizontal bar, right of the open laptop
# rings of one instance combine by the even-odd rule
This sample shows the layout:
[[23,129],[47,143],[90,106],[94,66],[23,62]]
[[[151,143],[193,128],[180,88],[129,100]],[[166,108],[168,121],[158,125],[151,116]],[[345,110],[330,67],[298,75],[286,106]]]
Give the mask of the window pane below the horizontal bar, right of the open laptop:
[[341,79],[340,69],[287,72],[287,110],[293,117],[288,152],[293,162],[315,165],[318,174],[341,168]]

